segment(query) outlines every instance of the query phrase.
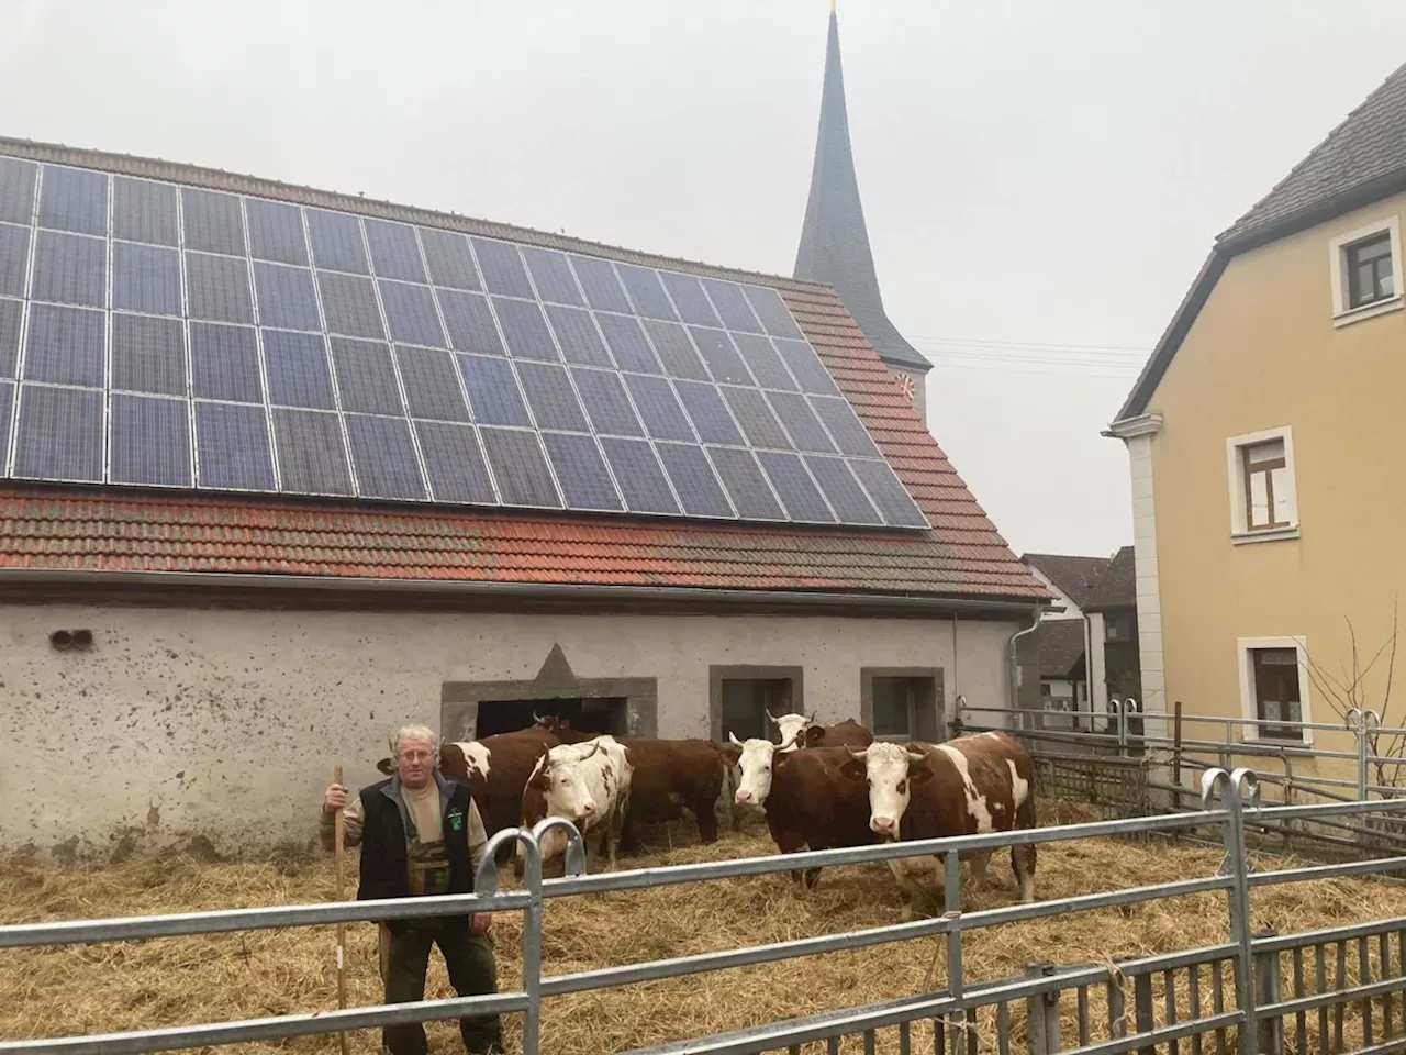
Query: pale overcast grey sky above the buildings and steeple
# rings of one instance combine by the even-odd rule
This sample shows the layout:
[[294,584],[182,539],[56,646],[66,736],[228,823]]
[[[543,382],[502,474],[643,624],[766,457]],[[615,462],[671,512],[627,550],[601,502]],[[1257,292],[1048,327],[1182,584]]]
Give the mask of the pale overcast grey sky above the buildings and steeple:
[[[1406,60],[1396,0],[839,0],[884,307],[1017,553],[1132,542],[1099,435],[1212,239]],[[790,274],[825,0],[6,0],[0,134]]]

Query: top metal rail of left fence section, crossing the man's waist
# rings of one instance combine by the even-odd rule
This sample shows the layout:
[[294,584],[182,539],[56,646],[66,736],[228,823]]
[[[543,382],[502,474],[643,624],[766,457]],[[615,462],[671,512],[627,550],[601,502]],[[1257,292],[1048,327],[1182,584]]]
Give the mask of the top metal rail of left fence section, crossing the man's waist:
[[[172,938],[190,934],[224,934],[273,927],[318,927],[329,923],[463,916],[472,912],[520,912],[531,895],[510,890],[492,896],[474,893],[429,897],[385,897],[326,904],[281,904],[262,909],[217,909],[169,916],[127,916],[107,920],[53,920],[0,926],[0,948],[34,945],[87,945],[97,941]],[[3,1051],[3,1049],[0,1049]]]

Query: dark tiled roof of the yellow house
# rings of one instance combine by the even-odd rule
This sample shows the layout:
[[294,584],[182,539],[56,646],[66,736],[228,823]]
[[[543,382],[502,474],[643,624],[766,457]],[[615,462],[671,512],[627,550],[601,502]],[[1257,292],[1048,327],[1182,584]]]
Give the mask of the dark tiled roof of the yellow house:
[[1406,65],[1396,68],[1288,176],[1220,232],[1118,411],[1116,421],[1136,416],[1147,408],[1167,366],[1232,257],[1403,190]]

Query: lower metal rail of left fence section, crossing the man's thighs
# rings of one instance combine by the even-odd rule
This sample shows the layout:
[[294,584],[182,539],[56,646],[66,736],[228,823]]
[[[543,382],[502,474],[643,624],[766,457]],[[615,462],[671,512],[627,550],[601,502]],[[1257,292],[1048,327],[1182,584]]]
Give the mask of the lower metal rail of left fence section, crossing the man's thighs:
[[418,1021],[460,1018],[467,1014],[510,1014],[527,1009],[527,993],[460,996],[449,1000],[416,1000],[404,1004],[352,1007],[344,1011],[312,1011],[274,1018],[246,1018],[205,1025],[172,1025],[160,1030],[0,1041],[0,1052],[65,1052],[66,1055],[138,1055],[221,1044],[246,1044],[284,1037],[366,1030]]

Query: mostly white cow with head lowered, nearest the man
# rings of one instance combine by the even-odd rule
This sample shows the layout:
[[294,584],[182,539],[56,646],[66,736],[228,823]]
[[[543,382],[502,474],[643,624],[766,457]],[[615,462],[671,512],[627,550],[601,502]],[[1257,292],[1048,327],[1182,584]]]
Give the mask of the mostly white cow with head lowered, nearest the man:
[[[522,827],[530,829],[544,817],[565,817],[576,826],[588,848],[592,833],[599,833],[595,858],[599,861],[600,852],[605,852],[610,871],[614,871],[616,845],[630,809],[633,772],[630,750],[613,736],[557,744],[537,760],[523,788]],[[560,829],[543,836],[543,864],[565,850],[567,836]],[[513,874],[517,878],[523,874],[522,844]]]

